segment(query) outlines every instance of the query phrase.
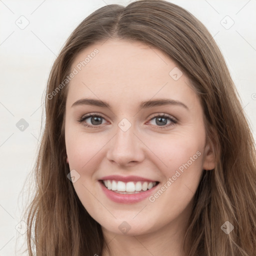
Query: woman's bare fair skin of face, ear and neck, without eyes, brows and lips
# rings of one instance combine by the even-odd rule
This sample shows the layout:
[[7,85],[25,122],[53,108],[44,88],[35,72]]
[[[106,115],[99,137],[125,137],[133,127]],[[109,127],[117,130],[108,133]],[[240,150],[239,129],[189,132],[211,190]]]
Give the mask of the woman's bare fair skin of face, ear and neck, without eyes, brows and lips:
[[[101,225],[110,247],[111,253],[104,249],[102,255],[185,256],[183,239],[192,199],[202,170],[214,168],[199,98],[184,73],[177,80],[169,75],[176,64],[168,56],[141,42],[112,39],[90,45],[75,57],[71,70],[94,48],[99,52],[68,84],[65,144],[70,170],[80,175],[74,189]],[[81,98],[106,101],[111,110],[72,106]],[[162,98],[180,101],[187,108],[171,104],[138,109],[141,101]],[[90,113],[99,115],[97,122],[93,117],[77,122]],[[161,126],[157,121],[161,118],[154,118],[157,114],[177,122],[167,119]],[[126,131],[118,126],[123,118],[131,124]],[[196,159],[154,201],[148,197],[135,203],[112,201],[98,181],[112,174],[135,175],[158,181],[161,189],[193,155]],[[130,226],[127,233],[118,228],[123,221]]]

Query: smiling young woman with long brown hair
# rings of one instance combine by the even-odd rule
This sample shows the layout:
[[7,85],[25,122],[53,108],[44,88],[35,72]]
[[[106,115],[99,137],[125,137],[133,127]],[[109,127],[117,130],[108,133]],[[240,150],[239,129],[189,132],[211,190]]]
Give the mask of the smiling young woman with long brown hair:
[[255,148],[225,61],[163,0],[85,18],[50,72],[29,255],[252,256]]

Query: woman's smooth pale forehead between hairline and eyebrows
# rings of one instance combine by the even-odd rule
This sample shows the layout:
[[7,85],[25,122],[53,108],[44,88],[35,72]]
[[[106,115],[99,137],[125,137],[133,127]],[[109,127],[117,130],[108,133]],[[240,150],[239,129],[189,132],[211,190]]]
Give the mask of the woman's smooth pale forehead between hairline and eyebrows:
[[[107,40],[90,45],[75,57],[73,69],[77,73],[68,84],[69,105],[85,96],[113,99],[117,104],[154,96],[192,103],[196,96],[171,58],[139,41]],[[173,74],[177,74],[175,79]]]

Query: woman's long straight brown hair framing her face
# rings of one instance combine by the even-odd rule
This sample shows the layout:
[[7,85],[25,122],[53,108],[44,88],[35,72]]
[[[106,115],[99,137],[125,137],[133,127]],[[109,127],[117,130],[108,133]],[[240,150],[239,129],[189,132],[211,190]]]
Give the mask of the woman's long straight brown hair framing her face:
[[[184,239],[187,255],[255,255],[255,147],[223,56],[205,26],[185,9],[164,0],[138,0],[94,11],[75,28],[54,61],[45,93],[45,127],[31,176],[36,190],[25,211],[29,256],[101,255],[107,246],[101,226],[67,178],[68,83],[62,82],[82,49],[109,38],[161,49],[200,98],[215,168],[203,171],[195,193]],[[229,234],[221,230],[225,221],[234,226]]]

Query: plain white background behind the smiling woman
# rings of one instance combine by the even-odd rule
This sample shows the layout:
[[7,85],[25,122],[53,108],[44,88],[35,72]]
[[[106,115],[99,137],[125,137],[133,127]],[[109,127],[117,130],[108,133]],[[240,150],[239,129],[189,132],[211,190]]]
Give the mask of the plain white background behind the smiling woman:
[[[56,55],[71,31],[92,11],[129,2],[0,0],[0,256],[27,255],[18,250],[25,234],[15,226],[26,203],[22,186],[40,143],[42,95]],[[195,15],[219,45],[255,138],[256,0],[170,2]],[[15,24],[21,22],[21,15],[29,21],[24,29]],[[226,15],[234,21],[229,29],[220,23]],[[24,131],[16,127],[21,118],[29,124]]]

